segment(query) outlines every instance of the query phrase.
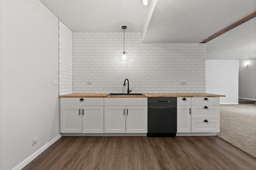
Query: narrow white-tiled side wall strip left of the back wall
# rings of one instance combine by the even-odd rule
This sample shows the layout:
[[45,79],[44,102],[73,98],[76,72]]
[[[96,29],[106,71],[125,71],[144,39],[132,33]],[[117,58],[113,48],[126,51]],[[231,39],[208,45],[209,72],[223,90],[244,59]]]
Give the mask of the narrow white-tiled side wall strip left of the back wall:
[[59,94],[73,92],[72,31],[59,21]]

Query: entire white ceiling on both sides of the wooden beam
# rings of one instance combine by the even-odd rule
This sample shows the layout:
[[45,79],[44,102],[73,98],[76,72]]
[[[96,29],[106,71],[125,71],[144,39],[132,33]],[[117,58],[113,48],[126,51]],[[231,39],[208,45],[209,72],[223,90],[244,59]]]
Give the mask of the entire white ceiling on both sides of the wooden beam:
[[[73,32],[122,32],[126,25],[142,32],[142,42],[199,43],[256,9],[256,0],[40,1]],[[206,59],[256,59],[255,25],[254,18],[206,43]]]

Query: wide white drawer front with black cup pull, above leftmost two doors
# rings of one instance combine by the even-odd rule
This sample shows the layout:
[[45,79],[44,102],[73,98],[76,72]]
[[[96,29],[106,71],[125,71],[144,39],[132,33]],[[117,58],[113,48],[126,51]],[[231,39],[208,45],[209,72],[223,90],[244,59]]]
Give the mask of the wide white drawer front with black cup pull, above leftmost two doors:
[[60,105],[104,106],[104,98],[60,98]]

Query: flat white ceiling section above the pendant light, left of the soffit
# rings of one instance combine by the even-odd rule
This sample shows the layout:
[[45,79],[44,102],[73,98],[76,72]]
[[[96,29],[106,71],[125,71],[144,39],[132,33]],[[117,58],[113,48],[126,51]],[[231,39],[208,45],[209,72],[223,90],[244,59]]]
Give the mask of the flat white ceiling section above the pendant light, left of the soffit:
[[40,0],[73,32],[141,32],[148,11],[142,0]]

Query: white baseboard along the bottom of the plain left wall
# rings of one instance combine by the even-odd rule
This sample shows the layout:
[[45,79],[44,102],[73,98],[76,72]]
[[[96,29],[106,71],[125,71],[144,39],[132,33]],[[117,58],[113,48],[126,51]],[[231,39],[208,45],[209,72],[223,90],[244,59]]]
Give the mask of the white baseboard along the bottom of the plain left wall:
[[38,155],[40,155],[44,150],[46,150],[48,147],[50,147],[54,142],[58,141],[58,139],[61,138],[61,135],[57,135],[54,139],[52,139],[50,142],[46,143],[43,147],[38,149],[36,152],[34,152],[32,155],[30,155],[28,158],[26,158],[24,161],[22,161],[20,164],[18,164],[16,167],[14,167],[12,170],[21,170],[24,168],[29,162],[31,162],[34,158],[36,158]]

